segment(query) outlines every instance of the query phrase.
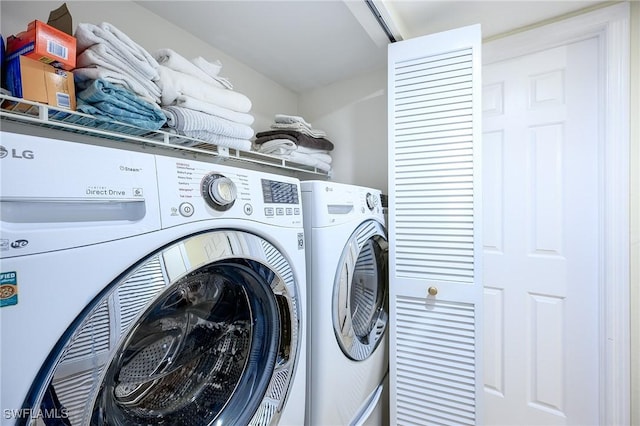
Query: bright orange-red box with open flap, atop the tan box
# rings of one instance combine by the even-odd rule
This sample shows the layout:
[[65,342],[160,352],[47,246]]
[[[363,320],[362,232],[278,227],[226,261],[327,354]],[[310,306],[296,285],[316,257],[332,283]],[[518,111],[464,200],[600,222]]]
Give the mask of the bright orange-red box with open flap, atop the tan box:
[[24,55],[56,68],[72,70],[76,67],[76,38],[35,20],[26,31],[7,38],[6,53]]

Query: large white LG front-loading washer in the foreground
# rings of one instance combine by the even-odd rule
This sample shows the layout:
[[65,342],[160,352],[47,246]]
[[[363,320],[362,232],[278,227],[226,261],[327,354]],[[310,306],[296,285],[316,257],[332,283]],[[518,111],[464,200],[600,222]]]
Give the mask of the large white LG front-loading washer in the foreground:
[[0,144],[3,425],[303,423],[297,179]]

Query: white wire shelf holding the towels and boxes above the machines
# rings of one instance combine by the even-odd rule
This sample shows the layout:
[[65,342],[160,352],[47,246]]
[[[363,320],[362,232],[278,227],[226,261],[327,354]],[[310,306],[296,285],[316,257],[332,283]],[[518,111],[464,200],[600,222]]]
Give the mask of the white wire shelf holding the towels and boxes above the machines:
[[316,167],[299,164],[274,155],[227,148],[175,133],[142,129],[117,121],[105,122],[92,115],[55,108],[4,94],[0,94],[0,118],[101,139],[193,152],[240,163],[246,162],[322,177],[329,175],[326,171]]

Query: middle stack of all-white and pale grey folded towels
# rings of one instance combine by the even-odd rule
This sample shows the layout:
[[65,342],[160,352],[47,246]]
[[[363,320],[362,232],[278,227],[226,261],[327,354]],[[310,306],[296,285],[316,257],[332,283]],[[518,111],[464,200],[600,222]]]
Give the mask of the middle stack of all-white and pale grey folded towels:
[[171,49],[153,54],[159,64],[160,104],[171,131],[218,146],[251,150],[251,100],[219,76],[219,61],[188,60]]

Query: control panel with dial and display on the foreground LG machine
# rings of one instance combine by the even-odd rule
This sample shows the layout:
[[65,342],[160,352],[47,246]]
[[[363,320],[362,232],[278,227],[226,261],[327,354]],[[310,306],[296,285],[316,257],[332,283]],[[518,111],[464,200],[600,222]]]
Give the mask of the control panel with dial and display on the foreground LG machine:
[[303,224],[296,178],[164,156],[156,167],[163,228],[214,218]]

